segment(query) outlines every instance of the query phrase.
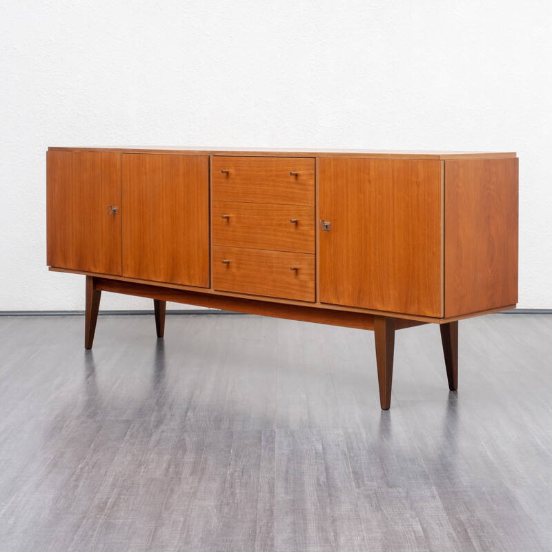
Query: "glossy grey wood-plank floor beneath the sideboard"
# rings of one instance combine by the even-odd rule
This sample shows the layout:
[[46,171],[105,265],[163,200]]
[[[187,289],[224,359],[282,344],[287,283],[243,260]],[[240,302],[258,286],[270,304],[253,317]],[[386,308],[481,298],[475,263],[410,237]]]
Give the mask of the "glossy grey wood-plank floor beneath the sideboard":
[[0,317],[0,550],[550,551],[552,316]]

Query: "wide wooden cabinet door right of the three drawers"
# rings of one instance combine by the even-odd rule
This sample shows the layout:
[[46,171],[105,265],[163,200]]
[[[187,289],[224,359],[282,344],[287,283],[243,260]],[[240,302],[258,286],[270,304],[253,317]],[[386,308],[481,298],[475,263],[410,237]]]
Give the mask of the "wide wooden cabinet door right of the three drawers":
[[319,299],[440,317],[441,161],[319,160]]

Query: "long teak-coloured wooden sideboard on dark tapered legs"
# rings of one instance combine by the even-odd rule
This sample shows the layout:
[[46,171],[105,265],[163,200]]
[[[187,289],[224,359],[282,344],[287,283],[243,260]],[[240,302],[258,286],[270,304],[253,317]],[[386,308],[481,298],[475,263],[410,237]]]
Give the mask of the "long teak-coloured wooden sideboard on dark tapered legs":
[[[49,148],[48,266],[102,291],[375,332],[382,408],[395,330],[517,303],[511,152]],[[422,366],[420,366],[422,369]]]

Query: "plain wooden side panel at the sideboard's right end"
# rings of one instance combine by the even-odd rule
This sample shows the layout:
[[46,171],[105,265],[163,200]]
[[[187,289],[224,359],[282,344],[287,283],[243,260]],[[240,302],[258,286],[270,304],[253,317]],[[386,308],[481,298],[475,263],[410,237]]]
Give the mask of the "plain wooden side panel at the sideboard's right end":
[[517,303],[518,160],[445,161],[445,315]]

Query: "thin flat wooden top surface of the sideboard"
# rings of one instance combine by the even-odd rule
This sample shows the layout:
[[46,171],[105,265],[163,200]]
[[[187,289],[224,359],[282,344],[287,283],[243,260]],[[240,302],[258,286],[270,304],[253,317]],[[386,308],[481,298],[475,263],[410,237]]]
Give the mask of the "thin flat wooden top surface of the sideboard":
[[515,157],[515,152],[408,151],[408,150],[302,150],[281,148],[207,148],[175,146],[52,147],[49,151],[98,151],[113,153],[172,153],[187,155],[244,155],[268,157],[371,157],[379,159],[477,159]]

